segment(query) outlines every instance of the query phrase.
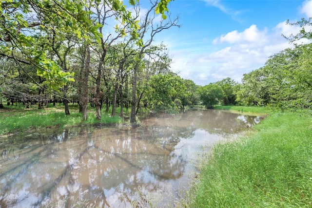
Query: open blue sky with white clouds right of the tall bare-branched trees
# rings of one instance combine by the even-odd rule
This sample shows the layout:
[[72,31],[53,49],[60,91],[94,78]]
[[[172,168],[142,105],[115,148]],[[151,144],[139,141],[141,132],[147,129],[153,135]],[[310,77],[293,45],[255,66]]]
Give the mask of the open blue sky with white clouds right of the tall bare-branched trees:
[[173,72],[204,86],[227,77],[240,82],[291,47],[282,34],[299,27],[286,21],[312,17],[312,0],[174,0],[168,9],[181,27],[161,32],[156,43],[167,45]]

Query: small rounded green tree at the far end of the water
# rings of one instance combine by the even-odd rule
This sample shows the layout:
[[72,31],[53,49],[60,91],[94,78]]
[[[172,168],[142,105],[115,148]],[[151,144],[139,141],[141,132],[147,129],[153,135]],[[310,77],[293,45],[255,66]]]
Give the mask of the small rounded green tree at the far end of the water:
[[213,108],[223,98],[221,87],[213,83],[200,87],[197,93],[200,101],[206,108]]

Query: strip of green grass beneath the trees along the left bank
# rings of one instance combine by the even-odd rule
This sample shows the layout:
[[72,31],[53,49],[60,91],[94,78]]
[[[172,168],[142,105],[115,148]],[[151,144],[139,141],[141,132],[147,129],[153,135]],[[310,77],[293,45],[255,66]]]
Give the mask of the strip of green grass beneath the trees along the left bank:
[[[95,108],[88,109],[88,120],[81,121],[82,114],[78,105],[69,105],[70,115],[65,115],[60,104],[44,109],[25,109],[24,107],[7,107],[0,109],[0,135],[25,131],[39,131],[46,128],[66,128],[78,125],[116,124],[123,122],[118,116],[111,117],[101,111],[101,120],[97,120]],[[119,109],[120,110],[120,109]],[[111,111],[110,111],[111,112]],[[116,113],[117,115],[119,113]]]

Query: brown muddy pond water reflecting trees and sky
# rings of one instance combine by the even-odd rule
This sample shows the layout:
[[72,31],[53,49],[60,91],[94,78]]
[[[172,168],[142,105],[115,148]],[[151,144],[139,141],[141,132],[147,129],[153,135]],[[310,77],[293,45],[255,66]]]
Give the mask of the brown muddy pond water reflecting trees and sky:
[[27,142],[0,146],[0,207],[165,207],[187,188],[200,151],[260,119],[189,111],[150,116],[138,128],[19,135]]

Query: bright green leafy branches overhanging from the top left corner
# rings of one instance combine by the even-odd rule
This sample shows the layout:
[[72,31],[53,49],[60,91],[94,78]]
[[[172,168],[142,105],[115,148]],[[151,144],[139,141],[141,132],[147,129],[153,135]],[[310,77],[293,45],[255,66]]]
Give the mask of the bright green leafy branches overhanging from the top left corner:
[[77,37],[89,33],[98,36],[90,27],[91,20],[83,10],[83,5],[83,1],[69,0],[1,1],[0,55],[35,66],[37,75],[48,80],[48,87],[58,90],[67,81],[72,80],[70,73],[61,71],[54,60],[47,58],[44,50],[36,47],[34,34],[37,34],[40,28],[52,33],[52,27],[65,32],[70,31]]

